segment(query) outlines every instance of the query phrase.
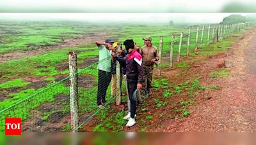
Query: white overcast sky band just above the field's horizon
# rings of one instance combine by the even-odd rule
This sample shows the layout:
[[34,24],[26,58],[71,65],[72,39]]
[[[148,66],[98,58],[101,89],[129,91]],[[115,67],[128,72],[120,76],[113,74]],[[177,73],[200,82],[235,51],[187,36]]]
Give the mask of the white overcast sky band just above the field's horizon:
[[231,14],[250,13],[0,13],[1,20],[74,20],[91,22],[218,23]]

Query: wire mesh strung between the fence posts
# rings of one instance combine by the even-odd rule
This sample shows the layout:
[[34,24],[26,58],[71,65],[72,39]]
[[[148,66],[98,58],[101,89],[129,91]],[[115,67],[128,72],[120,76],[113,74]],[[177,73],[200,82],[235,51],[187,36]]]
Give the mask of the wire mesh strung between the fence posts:
[[[240,26],[231,30],[228,25],[219,27],[211,25],[210,28],[205,26],[204,31],[202,27],[200,27],[199,31],[197,31],[197,27],[192,27],[190,34],[189,29],[183,32],[180,55],[186,55],[188,41],[189,52],[194,52],[196,46],[205,50],[210,47],[211,43],[216,42],[216,39],[221,41],[232,32],[244,29],[243,25]],[[173,31],[173,34],[173,61],[175,61],[179,53],[181,33]],[[190,38],[188,39],[189,35]],[[171,36],[164,38],[163,41],[163,56],[165,55],[167,58],[166,62],[170,60],[170,41],[172,41]],[[116,68],[114,67],[111,70],[111,67],[113,67],[113,59],[110,55],[104,55],[104,58],[99,58],[99,62],[84,69],[79,69],[76,73],[78,75],[77,88],[79,97],[78,125],[75,128],[71,128],[70,120],[72,116],[70,113],[70,79],[76,76],[73,74],[60,78],[56,83],[49,84],[44,89],[38,89],[35,94],[26,97],[26,99],[19,100],[19,98],[14,98],[16,101],[12,101],[12,104],[0,106],[0,132],[4,132],[4,119],[8,117],[22,118],[22,132],[84,131],[83,126],[102,112],[99,107],[107,107],[109,104],[116,102],[116,96],[127,92],[122,66],[119,66],[121,67],[118,69],[120,72],[113,72]],[[122,78],[120,82],[113,81],[116,80],[116,76]],[[120,85],[117,83],[120,83]],[[120,90],[117,92],[116,88],[118,86],[121,86],[121,88],[117,89]],[[20,92],[20,95],[27,95],[27,92]],[[122,97],[122,101],[128,102],[127,94],[125,96]],[[127,104],[127,106],[129,105]],[[106,114],[101,113],[100,115]],[[99,116],[98,121],[104,121],[100,118],[102,117]]]

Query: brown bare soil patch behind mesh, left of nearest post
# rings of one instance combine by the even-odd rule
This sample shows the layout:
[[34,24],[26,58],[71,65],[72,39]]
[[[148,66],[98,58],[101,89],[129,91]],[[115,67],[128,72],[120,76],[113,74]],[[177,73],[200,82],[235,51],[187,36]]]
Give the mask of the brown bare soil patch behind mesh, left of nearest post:
[[[45,102],[41,104],[37,109],[30,111],[33,117],[23,121],[22,132],[61,132],[62,128],[70,123],[70,113],[63,113],[65,109],[63,102],[69,102],[69,95],[58,94],[55,96],[54,102]],[[44,120],[44,113],[50,113],[57,111],[48,116],[47,120]]]

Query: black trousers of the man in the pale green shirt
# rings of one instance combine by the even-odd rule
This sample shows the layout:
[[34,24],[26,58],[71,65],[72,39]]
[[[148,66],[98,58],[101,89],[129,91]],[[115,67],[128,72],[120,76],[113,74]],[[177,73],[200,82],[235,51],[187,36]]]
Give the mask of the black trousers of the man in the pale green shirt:
[[111,81],[111,72],[98,70],[97,105],[106,102],[106,92]]

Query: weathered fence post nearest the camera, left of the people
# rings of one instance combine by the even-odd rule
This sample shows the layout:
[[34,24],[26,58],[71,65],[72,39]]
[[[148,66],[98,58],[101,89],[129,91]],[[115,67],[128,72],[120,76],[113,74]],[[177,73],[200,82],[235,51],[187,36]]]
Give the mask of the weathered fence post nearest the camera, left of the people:
[[77,56],[75,52],[68,53],[68,67],[70,76],[70,116],[71,129],[78,127],[78,84],[77,84]]

